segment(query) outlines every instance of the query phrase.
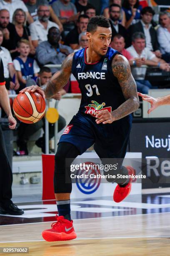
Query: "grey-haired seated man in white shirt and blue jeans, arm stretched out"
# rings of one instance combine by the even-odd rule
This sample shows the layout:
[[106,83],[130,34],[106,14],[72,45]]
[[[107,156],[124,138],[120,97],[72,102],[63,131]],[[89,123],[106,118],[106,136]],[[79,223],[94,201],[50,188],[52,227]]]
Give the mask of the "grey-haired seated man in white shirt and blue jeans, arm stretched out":
[[[134,57],[132,74],[137,84],[138,92],[148,94],[148,90],[153,89],[148,80],[145,80],[146,68],[142,65],[159,67],[165,71],[170,71],[170,66],[162,59],[158,59],[152,51],[145,47],[145,35],[136,32],[132,36],[132,46],[127,51]],[[138,61],[138,65],[137,65]],[[137,66],[137,67],[136,67]]]

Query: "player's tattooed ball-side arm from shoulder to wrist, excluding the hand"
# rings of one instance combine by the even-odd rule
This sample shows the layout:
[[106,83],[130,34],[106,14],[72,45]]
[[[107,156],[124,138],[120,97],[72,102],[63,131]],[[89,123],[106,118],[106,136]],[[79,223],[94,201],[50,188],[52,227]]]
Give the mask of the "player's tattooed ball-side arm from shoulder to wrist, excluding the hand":
[[71,75],[73,54],[67,56],[63,61],[61,70],[56,72],[47,84],[44,84],[41,88],[45,92],[45,97],[51,98],[55,95],[62,87],[65,86]]

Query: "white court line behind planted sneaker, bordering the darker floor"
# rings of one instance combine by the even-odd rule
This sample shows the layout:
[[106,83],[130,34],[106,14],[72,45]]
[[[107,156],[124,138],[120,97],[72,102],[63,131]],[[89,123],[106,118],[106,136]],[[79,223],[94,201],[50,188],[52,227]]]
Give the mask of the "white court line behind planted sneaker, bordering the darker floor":
[[[132,214],[132,215],[121,215],[121,216],[108,216],[108,217],[96,217],[96,218],[87,218],[87,219],[75,219],[75,220],[94,220],[94,219],[105,219],[105,218],[120,218],[120,217],[132,217],[132,216],[145,216],[145,215],[151,215],[151,214],[163,214],[163,213],[169,213],[170,212],[154,212],[154,213],[145,213],[145,214]],[[5,216],[5,215],[3,215]],[[73,220],[73,221],[75,221]],[[41,221],[41,222],[30,222],[30,223],[19,223],[19,224],[9,224],[9,225],[0,225],[0,227],[5,227],[5,226],[16,226],[16,225],[29,225],[29,224],[39,224],[39,223],[52,223],[55,222],[53,221]]]

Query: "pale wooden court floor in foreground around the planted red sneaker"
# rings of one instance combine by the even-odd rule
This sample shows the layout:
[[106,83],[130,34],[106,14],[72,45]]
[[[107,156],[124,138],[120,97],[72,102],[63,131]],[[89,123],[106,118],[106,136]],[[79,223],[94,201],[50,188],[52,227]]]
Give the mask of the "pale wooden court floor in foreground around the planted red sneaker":
[[29,247],[18,255],[31,256],[170,255],[169,212],[74,220],[77,239],[63,242],[43,241],[51,223],[0,226],[0,247]]

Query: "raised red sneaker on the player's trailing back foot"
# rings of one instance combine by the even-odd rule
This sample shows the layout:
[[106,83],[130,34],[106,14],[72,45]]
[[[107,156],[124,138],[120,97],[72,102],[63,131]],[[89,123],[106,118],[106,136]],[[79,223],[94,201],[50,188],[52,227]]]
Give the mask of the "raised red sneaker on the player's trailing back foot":
[[[131,166],[126,166],[126,168],[128,169],[128,174],[134,174],[135,175],[135,169],[133,169],[133,167]],[[129,183],[125,186],[125,187],[120,187],[119,184],[117,184],[114,194],[113,194],[113,200],[115,202],[121,202],[122,200],[125,199],[125,197],[127,197],[131,191],[131,187],[132,187],[132,178],[129,179]]]

